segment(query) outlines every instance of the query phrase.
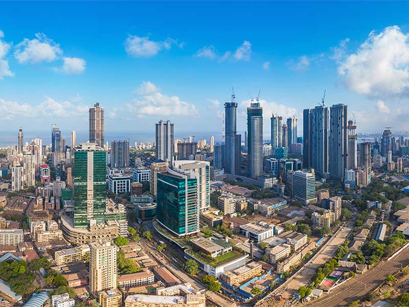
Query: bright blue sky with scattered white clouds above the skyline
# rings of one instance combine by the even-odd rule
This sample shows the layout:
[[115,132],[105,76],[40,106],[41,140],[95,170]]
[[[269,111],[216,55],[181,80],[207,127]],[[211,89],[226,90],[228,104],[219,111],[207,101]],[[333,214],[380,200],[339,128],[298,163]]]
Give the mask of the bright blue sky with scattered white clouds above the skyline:
[[[2,3],[2,130],[106,129],[221,133],[234,87],[238,129],[249,95],[271,112],[346,103],[359,131],[409,130],[409,27],[404,2]],[[374,32],[372,32],[374,31]],[[372,33],[372,34],[371,34]],[[2,35],[3,34],[3,35]],[[363,45],[362,45],[363,44]],[[2,47],[3,46],[3,47]],[[405,107],[406,106],[406,107]]]

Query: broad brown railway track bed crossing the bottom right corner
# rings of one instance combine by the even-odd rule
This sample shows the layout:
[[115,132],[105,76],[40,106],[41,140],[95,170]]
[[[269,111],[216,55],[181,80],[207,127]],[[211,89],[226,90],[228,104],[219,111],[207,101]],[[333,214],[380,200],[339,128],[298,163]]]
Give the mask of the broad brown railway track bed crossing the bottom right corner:
[[388,274],[396,274],[402,267],[409,265],[409,248],[405,247],[389,261],[381,261],[371,270],[345,282],[330,294],[313,300],[307,306],[337,307],[347,306],[349,302],[361,299],[368,292],[376,289]]

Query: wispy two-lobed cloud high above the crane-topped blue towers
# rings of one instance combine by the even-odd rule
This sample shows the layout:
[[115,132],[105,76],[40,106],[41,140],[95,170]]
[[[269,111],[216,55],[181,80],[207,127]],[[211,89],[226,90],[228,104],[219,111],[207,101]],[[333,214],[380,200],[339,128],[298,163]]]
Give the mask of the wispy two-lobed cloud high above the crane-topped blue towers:
[[197,57],[218,60],[219,62],[223,62],[228,59],[236,61],[249,61],[251,58],[251,54],[252,44],[247,40],[244,40],[235,52],[226,51],[221,56],[218,54],[216,48],[213,45],[202,47],[196,52]]

